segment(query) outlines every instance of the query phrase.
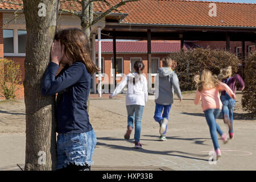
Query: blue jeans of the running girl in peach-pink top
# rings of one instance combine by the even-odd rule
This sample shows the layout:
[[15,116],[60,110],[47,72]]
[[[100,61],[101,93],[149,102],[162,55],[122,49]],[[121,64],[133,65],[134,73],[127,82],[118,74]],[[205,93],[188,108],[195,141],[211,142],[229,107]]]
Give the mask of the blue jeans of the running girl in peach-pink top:
[[208,109],[204,111],[205,118],[207,120],[207,124],[210,129],[210,138],[212,138],[214,150],[217,148],[220,148],[218,146],[218,136],[217,133],[222,135],[223,132],[220,129],[220,126],[218,126],[216,119],[220,116],[221,110],[220,109]]

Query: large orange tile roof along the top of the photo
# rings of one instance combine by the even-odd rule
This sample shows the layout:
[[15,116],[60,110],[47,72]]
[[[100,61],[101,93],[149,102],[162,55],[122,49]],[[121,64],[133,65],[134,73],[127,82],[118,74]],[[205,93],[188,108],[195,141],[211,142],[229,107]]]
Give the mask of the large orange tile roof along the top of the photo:
[[[121,0],[108,0],[113,5]],[[22,3],[22,0],[13,0]],[[210,17],[209,3],[216,3],[217,16]],[[72,6],[73,5],[73,6]],[[81,11],[74,2],[61,3],[62,9]],[[103,2],[94,3],[95,12],[108,10]],[[20,6],[0,3],[0,9],[22,9]],[[183,24],[198,26],[256,27],[256,4],[185,0],[140,0],[119,7],[120,12],[129,15],[122,23],[141,24]]]

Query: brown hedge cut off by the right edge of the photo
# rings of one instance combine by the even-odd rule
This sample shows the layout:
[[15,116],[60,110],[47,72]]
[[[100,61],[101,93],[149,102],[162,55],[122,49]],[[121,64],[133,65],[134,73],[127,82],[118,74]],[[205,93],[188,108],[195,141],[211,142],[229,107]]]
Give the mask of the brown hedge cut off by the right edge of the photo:
[[243,110],[256,115],[256,51],[250,54],[245,65],[245,89],[242,91]]

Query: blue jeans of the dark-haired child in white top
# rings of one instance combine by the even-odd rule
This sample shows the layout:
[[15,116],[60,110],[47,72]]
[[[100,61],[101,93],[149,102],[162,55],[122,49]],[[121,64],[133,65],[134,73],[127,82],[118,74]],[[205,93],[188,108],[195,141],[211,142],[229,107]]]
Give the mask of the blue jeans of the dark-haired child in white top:
[[141,119],[144,110],[144,106],[141,105],[129,105],[126,106],[128,119],[127,123],[128,126],[133,128],[133,122],[135,124],[135,132],[134,132],[134,139],[136,142],[139,142],[141,138]]

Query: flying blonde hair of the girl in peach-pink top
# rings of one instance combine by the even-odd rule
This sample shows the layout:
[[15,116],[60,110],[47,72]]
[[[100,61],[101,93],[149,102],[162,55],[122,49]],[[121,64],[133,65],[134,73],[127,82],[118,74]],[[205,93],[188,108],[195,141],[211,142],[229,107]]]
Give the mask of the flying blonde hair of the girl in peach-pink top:
[[196,75],[194,77],[194,81],[196,82],[196,86],[199,92],[204,89],[207,90],[217,88],[220,82],[217,77],[213,76],[212,72],[210,72],[208,69],[204,69],[200,75]]

